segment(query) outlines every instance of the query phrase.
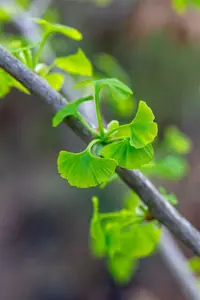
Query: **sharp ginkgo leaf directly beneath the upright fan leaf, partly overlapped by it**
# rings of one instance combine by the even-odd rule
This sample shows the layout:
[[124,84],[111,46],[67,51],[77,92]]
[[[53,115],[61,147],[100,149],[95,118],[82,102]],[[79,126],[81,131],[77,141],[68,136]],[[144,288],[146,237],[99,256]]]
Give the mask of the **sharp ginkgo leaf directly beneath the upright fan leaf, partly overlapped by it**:
[[125,139],[108,144],[103,148],[101,154],[104,157],[115,159],[120,167],[132,170],[139,169],[152,160],[153,147],[149,144],[144,148],[136,149],[130,145],[129,139]]

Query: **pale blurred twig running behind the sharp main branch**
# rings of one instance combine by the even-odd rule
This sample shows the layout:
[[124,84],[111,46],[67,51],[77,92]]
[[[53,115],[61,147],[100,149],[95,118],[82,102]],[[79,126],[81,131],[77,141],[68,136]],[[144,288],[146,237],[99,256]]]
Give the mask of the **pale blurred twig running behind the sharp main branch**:
[[[30,16],[36,16],[40,17],[46,8],[51,4],[51,0],[46,0],[46,1],[37,1],[35,0],[30,8],[30,12],[25,12],[22,10],[20,7],[16,7],[16,3],[10,0],[11,4],[15,5],[15,11],[19,11],[19,14],[15,14],[13,16],[13,22],[15,25],[18,27],[20,32],[30,41],[30,42],[35,42],[36,40],[41,39],[41,33],[38,27],[36,26],[35,23],[33,23],[30,19]],[[137,1],[136,1],[137,2]],[[41,7],[42,3],[42,7]],[[8,5],[8,3],[6,3]],[[39,4],[39,6],[38,6]],[[39,7],[39,9],[38,9]],[[20,17],[21,16],[21,17]],[[22,24],[22,20],[24,20],[24,23]],[[28,31],[27,31],[28,29]],[[31,34],[30,34],[31,33]],[[50,61],[50,63],[53,61],[55,57],[55,54],[53,51],[50,49],[50,47],[47,45],[45,48],[45,58],[47,61]],[[66,75],[65,75],[66,77]],[[64,88],[64,94],[68,95],[70,86],[73,86],[72,78],[70,76],[67,76],[67,85],[65,85]],[[72,96],[72,95],[70,95]],[[74,95],[73,95],[74,98]],[[88,117],[89,115],[89,120],[92,122],[96,122],[96,119],[94,118],[94,103],[91,103],[91,107],[88,107],[88,104],[83,107],[83,113],[84,115]],[[92,111],[92,113],[91,113]],[[173,253],[176,253],[176,257],[173,255]],[[161,256],[163,257],[166,265],[170,268],[173,276],[175,277],[176,281],[180,284],[180,286],[185,290],[186,294],[192,299],[199,299],[199,291],[196,286],[196,280],[193,277],[191,271],[187,269],[187,274],[185,274],[185,261],[184,259],[179,260],[177,256],[179,255],[180,257],[183,257],[183,254],[173,241],[172,237],[167,234],[164,234],[163,238],[160,241],[160,253]],[[175,272],[174,272],[175,269]],[[193,297],[194,295],[194,297]]]

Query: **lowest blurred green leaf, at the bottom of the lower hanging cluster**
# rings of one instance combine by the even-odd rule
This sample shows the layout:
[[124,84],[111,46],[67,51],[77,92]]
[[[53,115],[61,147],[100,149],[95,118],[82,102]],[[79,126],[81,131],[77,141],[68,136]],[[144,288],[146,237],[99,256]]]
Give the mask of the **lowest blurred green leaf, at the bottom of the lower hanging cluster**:
[[128,283],[136,267],[136,260],[121,254],[116,254],[108,260],[108,269],[118,283]]

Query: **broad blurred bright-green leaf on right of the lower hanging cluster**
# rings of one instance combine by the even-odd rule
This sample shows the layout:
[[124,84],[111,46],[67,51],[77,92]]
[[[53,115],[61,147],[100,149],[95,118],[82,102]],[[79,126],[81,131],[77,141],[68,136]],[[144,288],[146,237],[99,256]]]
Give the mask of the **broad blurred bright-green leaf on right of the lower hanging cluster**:
[[121,236],[121,253],[132,259],[150,255],[155,251],[161,237],[161,230],[153,222],[138,223]]

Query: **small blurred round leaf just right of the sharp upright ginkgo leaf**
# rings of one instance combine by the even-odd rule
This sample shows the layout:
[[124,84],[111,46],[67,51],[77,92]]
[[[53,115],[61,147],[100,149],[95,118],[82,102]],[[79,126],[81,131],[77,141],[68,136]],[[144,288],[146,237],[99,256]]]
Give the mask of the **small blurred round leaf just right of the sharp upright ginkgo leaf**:
[[170,126],[165,130],[165,146],[179,154],[187,154],[191,150],[190,139],[175,126]]

